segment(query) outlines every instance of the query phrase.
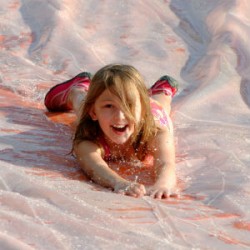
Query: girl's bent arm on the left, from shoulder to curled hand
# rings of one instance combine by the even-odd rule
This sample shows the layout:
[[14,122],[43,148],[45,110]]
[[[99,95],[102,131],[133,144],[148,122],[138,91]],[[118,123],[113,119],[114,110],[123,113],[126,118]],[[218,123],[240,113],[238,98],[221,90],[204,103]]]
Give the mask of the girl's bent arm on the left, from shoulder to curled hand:
[[131,183],[109,168],[101,156],[101,149],[95,143],[82,141],[75,146],[74,152],[83,171],[97,184],[130,196],[140,197],[145,194],[143,185]]

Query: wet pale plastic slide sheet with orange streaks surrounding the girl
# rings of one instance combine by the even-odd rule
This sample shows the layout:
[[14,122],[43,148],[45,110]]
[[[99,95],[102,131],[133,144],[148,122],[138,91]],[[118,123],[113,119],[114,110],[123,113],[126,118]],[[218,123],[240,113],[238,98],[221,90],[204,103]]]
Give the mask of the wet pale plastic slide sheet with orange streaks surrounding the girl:
[[[249,249],[250,5],[247,0],[0,0],[1,249]],[[73,113],[51,86],[130,63],[173,101],[181,197],[115,194],[69,154]],[[114,166],[152,182],[149,168]]]

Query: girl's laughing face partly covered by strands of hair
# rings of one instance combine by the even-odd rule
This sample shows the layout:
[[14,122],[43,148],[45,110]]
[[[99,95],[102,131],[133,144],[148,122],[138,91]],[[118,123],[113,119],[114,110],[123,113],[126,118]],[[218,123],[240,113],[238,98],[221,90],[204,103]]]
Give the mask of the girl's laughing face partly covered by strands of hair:
[[[135,121],[141,119],[141,102],[136,90]],[[105,90],[95,101],[90,116],[99,122],[105,136],[115,144],[126,143],[135,131],[135,123],[125,117],[118,97]]]

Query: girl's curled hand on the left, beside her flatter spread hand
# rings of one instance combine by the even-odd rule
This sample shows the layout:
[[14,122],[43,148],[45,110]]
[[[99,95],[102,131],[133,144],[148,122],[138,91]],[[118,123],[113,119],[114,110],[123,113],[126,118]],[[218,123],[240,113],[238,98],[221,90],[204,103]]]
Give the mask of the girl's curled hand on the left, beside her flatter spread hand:
[[114,191],[119,194],[133,197],[142,197],[146,194],[145,186],[135,182],[119,182],[116,184]]

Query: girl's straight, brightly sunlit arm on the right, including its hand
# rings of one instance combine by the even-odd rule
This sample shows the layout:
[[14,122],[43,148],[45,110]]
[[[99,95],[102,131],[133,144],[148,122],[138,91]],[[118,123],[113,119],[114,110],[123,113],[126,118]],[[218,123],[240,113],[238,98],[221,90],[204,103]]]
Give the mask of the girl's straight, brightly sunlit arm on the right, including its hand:
[[177,194],[175,173],[175,145],[170,130],[161,128],[153,143],[154,166],[156,169],[156,182],[149,189],[155,198],[167,198]]

